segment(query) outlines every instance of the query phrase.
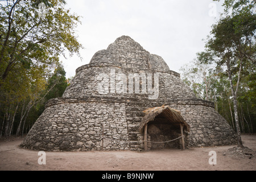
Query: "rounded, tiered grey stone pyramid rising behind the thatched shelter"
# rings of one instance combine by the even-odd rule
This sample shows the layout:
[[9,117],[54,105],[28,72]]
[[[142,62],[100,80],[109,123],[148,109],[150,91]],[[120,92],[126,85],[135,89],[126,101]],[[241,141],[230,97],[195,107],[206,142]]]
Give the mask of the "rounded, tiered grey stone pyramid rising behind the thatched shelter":
[[[166,105],[189,126],[185,146],[236,143],[236,134],[214,104],[196,98],[162,57],[121,36],[94,54],[63,97],[53,98],[20,146],[44,151],[143,150],[181,148],[181,131],[159,114],[139,131],[144,110]],[[154,143],[154,142],[163,143]]]

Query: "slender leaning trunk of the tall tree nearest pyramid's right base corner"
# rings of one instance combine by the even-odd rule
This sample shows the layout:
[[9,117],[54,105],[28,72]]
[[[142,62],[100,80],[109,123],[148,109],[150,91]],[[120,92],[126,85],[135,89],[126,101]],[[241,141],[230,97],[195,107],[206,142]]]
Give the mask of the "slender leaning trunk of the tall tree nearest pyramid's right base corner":
[[230,84],[230,89],[232,93],[233,105],[234,105],[234,119],[235,119],[236,129],[237,129],[237,145],[238,147],[243,147],[242,139],[241,139],[241,131],[239,126],[238,110],[237,110],[237,96],[236,96],[236,93],[234,92],[229,60],[226,61],[226,65],[228,68],[229,84]]

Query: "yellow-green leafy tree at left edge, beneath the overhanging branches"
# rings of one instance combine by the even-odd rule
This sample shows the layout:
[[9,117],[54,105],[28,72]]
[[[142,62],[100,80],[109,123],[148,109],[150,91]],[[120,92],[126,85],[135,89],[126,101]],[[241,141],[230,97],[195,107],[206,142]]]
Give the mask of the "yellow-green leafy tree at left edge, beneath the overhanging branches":
[[[29,72],[24,71],[23,67],[20,67],[19,69],[16,67],[15,71],[15,73],[10,72],[9,77],[6,78],[6,81],[9,84],[4,84],[0,88],[0,105],[1,110],[6,110],[6,115],[10,116],[8,118],[13,119],[18,107],[21,106],[21,123],[29,111],[30,104],[35,100],[38,100],[39,94],[45,89],[46,78],[44,76],[44,69],[35,67],[35,65],[30,68]],[[10,119],[6,119],[5,121],[5,137],[10,135],[9,131],[13,127],[13,119],[12,121]]]

